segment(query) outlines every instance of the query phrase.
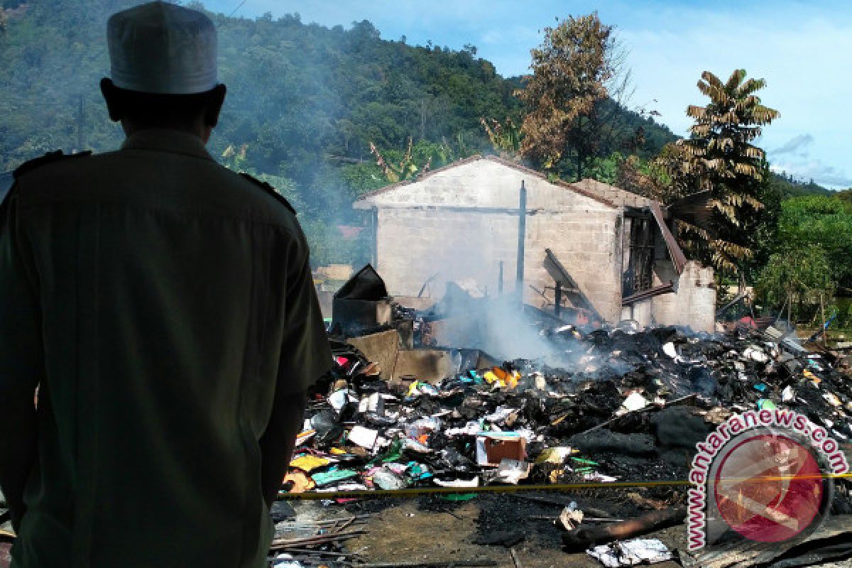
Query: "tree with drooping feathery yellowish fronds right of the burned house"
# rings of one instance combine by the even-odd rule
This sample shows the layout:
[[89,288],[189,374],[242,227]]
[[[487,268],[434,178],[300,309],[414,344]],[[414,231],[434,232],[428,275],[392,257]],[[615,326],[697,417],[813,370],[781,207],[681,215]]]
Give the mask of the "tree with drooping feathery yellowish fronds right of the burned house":
[[687,108],[695,120],[691,136],[677,141],[660,163],[683,193],[710,192],[712,221],[707,227],[678,221],[684,247],[740,276],[752,256],[750,228],[763,209],[759,194],[768,172],[766,152],[751,142],[779,117],[755,95],[765,85],[763,79],[746,80],[744,69],[734,71],[727,83],[702,73],[698,88],[710,103]]

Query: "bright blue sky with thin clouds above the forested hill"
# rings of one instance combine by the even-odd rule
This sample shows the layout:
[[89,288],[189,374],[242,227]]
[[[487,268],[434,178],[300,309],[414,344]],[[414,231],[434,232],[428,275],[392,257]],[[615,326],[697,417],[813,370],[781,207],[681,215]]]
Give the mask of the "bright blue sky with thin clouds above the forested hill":
[[[242,0],[204,0],[230,14]],[[298,12],[325,26],[370,20],[385,39],[406,36],[452,49],[472,43],[504,76],[526,73],[529,50],[544,26],[569,14],[597,10],[628,50],[634,93],[630,106],[662,114],[686,135],[690,104],[705,104],[695,83],[701,72],[723,80],[736,68],[767,81],[763,103],[780,111],[759,145],[773,168],[831,187],[852,186],[852,7],[843,2],[717,1],[578,2],[457,0],[422,2],[290,2],[245,0],[236,15]]]

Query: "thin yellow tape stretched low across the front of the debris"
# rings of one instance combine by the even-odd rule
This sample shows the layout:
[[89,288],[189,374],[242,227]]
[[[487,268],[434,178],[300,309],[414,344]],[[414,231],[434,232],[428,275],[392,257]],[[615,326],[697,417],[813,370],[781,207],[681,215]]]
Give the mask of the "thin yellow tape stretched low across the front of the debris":
[[[852,479],[852,473],[822,473],[815,475],[780,475],[756,476],[749,478],[724,478],[727,483],[736,481],[763,483],[784,479]],[[485,485],[481,487],[420,487],[412,489],[375,489],[366,491],[309,491],[304,493],[288,493],[279,491],[279,501],[325,501],[330,499],[359,499],[364,497],[415,497],[422,495],[464,495],[471,493],[524,493],[529,491],[577,491],[577,490],[607,490],[630,487],[677,487],[694,485],[686,479],[671,481],[612,481],[561,483],[546,485]]]

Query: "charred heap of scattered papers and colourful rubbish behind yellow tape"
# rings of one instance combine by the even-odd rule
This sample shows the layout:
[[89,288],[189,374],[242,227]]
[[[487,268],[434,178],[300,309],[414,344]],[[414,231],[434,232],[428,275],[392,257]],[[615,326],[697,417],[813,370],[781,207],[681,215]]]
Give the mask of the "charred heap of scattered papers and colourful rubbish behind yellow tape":
[[438,382],[379,377],[334,343],[288,476],[291,491],[367,491],[686,479],[696,442],[733,413],[783,405],[849,439],[849,380],[820,353],[756,330],[676,328],[542,336],[552,360],[460,369]]

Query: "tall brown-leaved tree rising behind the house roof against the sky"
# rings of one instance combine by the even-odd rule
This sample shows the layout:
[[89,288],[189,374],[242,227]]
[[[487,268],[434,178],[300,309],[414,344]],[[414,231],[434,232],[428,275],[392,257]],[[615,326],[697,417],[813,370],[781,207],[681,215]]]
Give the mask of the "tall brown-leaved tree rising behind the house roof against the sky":
[[609,54],[613,28],[597,13],[569,16],[555,28],[544,28],[544,43],[530,53],[533,75],[518,97],[527,105],[521,129],[521,152],[545,169],[570,158],[577,179],[594,156],[588,135],[596,102],[607,98],[607,82],[615,75]]

